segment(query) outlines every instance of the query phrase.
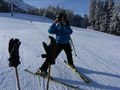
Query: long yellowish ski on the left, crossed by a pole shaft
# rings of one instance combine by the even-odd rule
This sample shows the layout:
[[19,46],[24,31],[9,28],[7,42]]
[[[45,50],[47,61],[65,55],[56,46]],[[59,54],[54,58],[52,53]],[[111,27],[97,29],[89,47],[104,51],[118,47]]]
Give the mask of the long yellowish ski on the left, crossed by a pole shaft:
[[[38,77],[43,77],[45,79],[48,78],[47,76],[43,76],[43,75],[40,75],[38,73],[31,72],[31,71],[29,71],[27,69],[25,69],[25,71],[32,74],[32,75],[38,76]],[[61,85],[64,85],[64,86],[67,86],[67,87],[70,87],[70,88],[74,88],[74,89],[79,88],[79,86],[74,86],[74,85],[71,85],[71,84],[68,84],[68,83],[64,83],[62,81],[57,80],[55,77],[52,77],[52,76],[50,76],[50,81],[55,82],[55,83],[59,83]]]

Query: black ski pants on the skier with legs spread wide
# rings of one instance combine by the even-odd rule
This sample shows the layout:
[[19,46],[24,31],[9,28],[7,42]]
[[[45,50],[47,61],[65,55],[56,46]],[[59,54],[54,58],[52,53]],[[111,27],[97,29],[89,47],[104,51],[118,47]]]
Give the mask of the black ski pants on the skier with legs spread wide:
[[[68,63],[73,65],[72,49],[71,49],[70,43],[68,44],[57,43],[56,46],[57,47],[56,47],[55,58],[57,58],[60,52],[64,50],[67,56]],[[47,71],[48,65],[49,65],[48,60],[45,60],[45,62],[42,64],[42,66],[39,69],[41,71]]]

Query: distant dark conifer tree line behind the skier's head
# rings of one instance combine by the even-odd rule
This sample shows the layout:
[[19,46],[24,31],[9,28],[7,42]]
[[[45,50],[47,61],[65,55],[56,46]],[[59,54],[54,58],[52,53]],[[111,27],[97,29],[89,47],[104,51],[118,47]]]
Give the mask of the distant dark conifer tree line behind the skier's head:
[[28,9],[27,13],[48,17],[53,20],[55,19],[56,15],[58,15],[59,13],[64,13],[66,14],[66,17],[70,25],[72,26],[86,28],[89,25],[88,15],[84,15],[84,17],[82,17],[80,15],[74,14],[72,10],[66,10],[64,8],[60,8],[58,5],[56,7],[48,6],[47,8],[40,8],[36,10]]

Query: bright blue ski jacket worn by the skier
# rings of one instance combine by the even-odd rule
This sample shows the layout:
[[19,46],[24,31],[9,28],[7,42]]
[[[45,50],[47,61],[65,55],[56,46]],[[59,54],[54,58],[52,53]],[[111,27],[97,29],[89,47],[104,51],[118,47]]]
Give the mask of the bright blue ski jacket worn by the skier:
[[72,29],[69,25],[63,25],[60,23],[53,23],[48,29],[50,34],[56,34],[56,42],[67,44],[70,40],[70,34],[72,34]]

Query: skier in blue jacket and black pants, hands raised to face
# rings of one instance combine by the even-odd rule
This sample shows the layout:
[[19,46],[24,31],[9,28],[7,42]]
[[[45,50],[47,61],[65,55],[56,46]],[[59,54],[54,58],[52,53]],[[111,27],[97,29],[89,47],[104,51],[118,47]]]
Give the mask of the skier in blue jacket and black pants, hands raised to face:
[[[72,58],[72,49],[70,46],[70,35],[72,34],[72,29],[70,28],[69,22],[66,19],[66,15],[60,13],[53,24],[48,29],[50,34],[56,34],[56,53],[55,58],[59,55],[59,53],[64,50],[67,56],[68,64],[75,68]],[[55,61],[54,61],[55,62]],[[53,63],[55,64],[55,63]],[[47,75],[48,69],[48,60],[46,59],[42,66],[39,68],[38,72],[43,75]]]

